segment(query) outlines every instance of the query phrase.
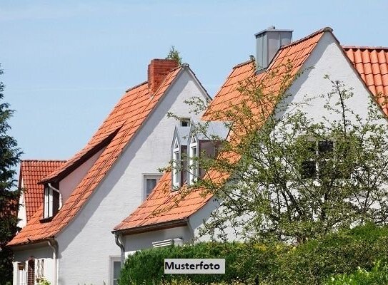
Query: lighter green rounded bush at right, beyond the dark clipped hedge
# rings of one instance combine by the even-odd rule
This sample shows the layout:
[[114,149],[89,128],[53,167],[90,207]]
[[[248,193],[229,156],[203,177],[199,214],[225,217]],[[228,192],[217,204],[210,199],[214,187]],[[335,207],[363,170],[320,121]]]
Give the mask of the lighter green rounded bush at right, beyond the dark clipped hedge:
[[388,256],[388,227],[367,224],[314,239],[279,259],[269,284],[322,284],[332,274],[372,269]]

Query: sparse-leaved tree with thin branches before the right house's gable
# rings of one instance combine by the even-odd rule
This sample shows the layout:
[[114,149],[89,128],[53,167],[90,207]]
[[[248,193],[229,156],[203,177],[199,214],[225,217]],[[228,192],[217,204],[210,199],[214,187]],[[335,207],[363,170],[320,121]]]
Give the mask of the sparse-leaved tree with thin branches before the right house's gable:
[[[238,104],[207,110],[228,122],[232,134],[216,159],[197,159],[207,175],[191,186],[222,201],[204,226],[213,237],[227,237],[224,229],[232,227],[245,238],[299,243],[354,224],[388,222],[388,124],[379,107],[371,98],[356,113],[352,88],[327,76],[332,91],[320,96],[329,116],[312,120],[303,110],[312,97],[287,100],[299,76],[291,71],[287,63],[265,82],[248,78]],[[274,93],[271,81],[280,82]]]

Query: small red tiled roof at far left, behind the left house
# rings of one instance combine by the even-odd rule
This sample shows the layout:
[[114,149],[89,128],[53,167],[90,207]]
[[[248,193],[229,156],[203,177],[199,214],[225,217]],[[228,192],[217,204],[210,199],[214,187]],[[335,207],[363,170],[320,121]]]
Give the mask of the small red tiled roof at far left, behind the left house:
[[64,160],[23,160],[20,165],[19,187],[23,180],[26,222],[43,203],[44,186],[38,182],[64,164]]

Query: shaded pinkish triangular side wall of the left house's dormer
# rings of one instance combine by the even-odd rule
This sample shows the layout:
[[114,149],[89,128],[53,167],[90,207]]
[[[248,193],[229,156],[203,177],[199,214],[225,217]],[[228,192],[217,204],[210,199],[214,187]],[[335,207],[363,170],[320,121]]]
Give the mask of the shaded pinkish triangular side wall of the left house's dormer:
[[94,165],[94,162],[96,162],[97,158],[99,158],[103,151],[104,149],[96,152],[96,154],[90,157],[89,160],[86,160],[86,162],[79,165],[76,170],[71,172],[59,182],[59,192],[61,192],[62,195],[62,204],[64,204],[66,199],[70,197],[71,192],[76,189],[76,186],[79,185],[79,182],[81,182],[82,178],[85,177],[86,173]]

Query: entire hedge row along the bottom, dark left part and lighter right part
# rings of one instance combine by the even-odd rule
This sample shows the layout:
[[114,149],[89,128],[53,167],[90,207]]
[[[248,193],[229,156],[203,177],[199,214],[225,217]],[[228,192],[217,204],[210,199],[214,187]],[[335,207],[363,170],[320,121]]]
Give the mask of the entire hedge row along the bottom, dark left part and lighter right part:
[[[169,284],[176,280],[178,284],[179,280],[182,284],[183,280],[187,284],[324,284],[329,276],[352,274],[357,267],[369,271],[374,261],[386,262],[387,257],[388,227],[367,224],[298,247],[281,243],[208,242],[146,249],[126,260],[119,284]],[[226,274],[164,274],[165,258],[224,258]]]

